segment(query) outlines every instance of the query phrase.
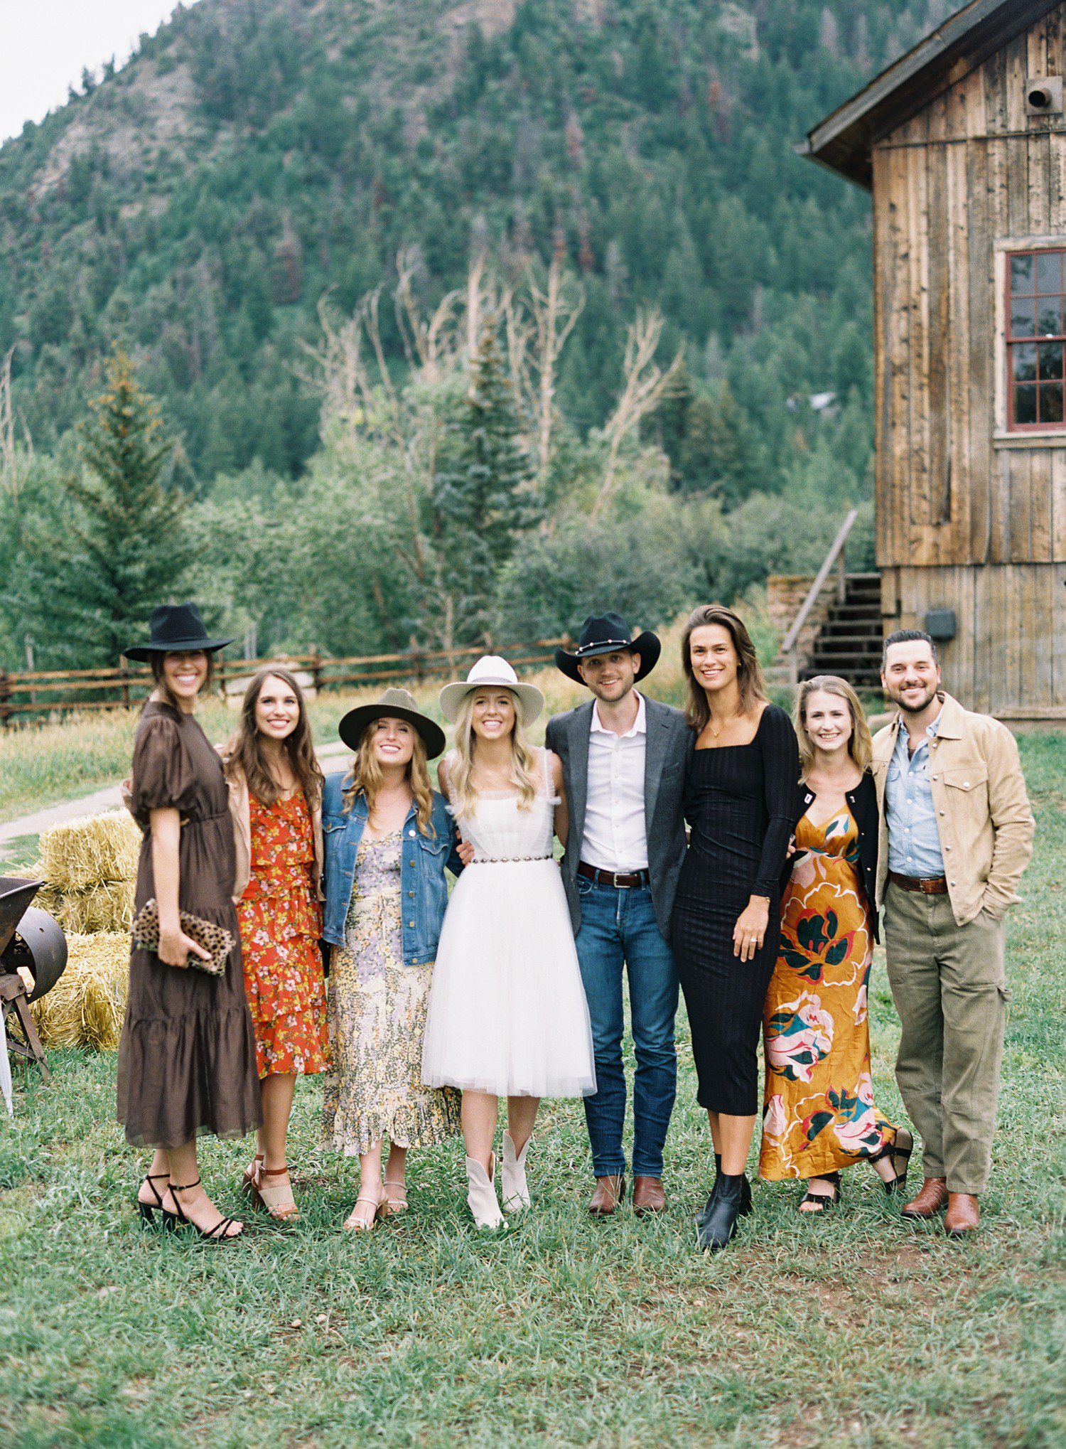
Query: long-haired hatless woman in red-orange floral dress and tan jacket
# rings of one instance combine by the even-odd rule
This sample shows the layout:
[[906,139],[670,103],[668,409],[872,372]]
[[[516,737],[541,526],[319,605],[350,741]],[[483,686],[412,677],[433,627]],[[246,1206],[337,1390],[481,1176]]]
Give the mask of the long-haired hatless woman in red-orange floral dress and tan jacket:
[[322,771],[300,685],[261,669],[226,751],[236,903],[262,1127],[245,1188],[277,1220],[297,1216],[285,1139],[295,1078],[329,1066],[322,968]]

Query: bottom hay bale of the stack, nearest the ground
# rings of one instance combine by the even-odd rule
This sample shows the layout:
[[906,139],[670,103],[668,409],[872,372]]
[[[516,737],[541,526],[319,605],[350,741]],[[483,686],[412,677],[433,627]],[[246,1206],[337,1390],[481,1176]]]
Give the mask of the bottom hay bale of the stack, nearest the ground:
[[67,969],[30,1007],[45,1046],[90,1046],[113,1052],[119,1045],[129,990],[129,936],[97,932],[67,938]]

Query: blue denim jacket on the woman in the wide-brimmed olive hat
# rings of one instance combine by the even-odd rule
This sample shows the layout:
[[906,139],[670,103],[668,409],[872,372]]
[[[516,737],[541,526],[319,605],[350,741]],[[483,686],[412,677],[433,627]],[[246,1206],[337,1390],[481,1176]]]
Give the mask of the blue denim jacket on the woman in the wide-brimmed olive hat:
[[[366,826],[366,800],[356,797],[345,813],[342,781],[345,772],[326,777],[322,796],[322,835],[324,842],[326,910],[322,935],[333,946],[345,943],[345,920],[352,900],[355,856]],[[419,830],[414,806],[404,822],[400,856],[400,890],[403,901],[404,965],[423,966],[433,961],[440,940],[440,927],[448,909],[445,867],[453,875],[462,869],[456,853],[458,835],[448,813],[445,797],[433,791],[430,816],[436,835]]]

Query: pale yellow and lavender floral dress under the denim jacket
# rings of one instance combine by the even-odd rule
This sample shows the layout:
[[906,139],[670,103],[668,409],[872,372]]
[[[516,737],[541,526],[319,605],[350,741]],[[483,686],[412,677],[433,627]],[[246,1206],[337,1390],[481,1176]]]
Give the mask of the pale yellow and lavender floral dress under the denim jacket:
[[382,1137],[429,1148],[459,1130],[461,1094],[421,1081],[433,965],[404,965],[401,843],[401,830],[361,840],[345,945],[330,956],[323,1135],[348,1156]]

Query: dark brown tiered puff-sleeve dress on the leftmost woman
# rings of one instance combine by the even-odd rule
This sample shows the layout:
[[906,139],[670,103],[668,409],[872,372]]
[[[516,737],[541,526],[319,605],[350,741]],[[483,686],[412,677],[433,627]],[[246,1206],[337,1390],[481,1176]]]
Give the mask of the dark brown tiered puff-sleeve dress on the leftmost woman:
[[167,966],[133,949],[119,1043],[119,1122],[135,1146],[178,1148],[203,1133],[243,1137],[259,1126],[255,1035],[245,1000],[233,907],[233,826],[222,762],[191,714],[149,703],[133,740],[132,810],[140,845],[135,909],[155,895],[149,813],[181,813],[181,910],[224,926],[222,977]]

